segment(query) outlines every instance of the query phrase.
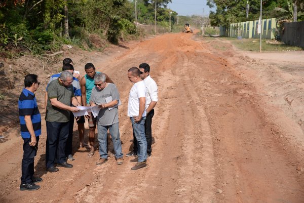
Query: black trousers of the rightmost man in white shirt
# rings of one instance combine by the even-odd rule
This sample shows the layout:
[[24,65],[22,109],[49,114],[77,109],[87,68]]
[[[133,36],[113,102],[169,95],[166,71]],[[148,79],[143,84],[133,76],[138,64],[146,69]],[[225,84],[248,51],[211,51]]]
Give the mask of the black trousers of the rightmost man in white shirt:
[[[154,116],[154,109],[152,109],[147,115],[144,123],[144,131],[146,135],[146,140],[147,140],[147,154],[151,154],[152,152],[152,118]],[[134,132],[133,132],[133,152],[138,153],[138,148],[137,148],[137,140],[135,138]]]

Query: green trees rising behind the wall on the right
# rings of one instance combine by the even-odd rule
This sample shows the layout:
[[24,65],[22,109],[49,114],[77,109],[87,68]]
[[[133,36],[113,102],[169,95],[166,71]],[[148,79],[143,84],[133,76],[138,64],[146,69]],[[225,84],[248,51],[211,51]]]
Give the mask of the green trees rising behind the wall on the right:
[[[303,21],[303,4],[304,0],[262,1],[263,19],[277,18],[292,21]],[[215,8],[215,11],[211,11],[209,15],[212,26],[229,26],[231,23],[257,20],[259,19],[260,15],[260,0],[207,0],[207,5],[210,8]],[[248,17],[246,13],[247,8]]]

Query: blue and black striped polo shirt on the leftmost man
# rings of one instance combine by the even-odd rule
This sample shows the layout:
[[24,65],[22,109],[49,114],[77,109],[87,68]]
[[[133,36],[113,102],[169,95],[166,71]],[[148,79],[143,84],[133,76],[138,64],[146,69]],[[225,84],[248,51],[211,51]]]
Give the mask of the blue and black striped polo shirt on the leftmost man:
[[35,136],[41,135],[41,115],[37,106],[35,95],[27,90],[23,89],[18,101],[19,119],[20,119],[20,131],[22,138],[30,138],[30,134],[25,125],[24,116],[30,115]]

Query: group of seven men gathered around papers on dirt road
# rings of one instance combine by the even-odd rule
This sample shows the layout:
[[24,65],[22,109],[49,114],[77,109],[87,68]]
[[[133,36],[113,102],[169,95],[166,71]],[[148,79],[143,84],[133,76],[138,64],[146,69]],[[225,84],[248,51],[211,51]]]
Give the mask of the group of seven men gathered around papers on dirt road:
[[[84,116],[75,117],[78,123],[80,147],[90,149],[88,157],[94,155],[95,129],[98,129],[100,158],[96,165],[107,161],[107,131],[113,141],[113,148],[117,164],[123,164],[123,153],[119,133],[118,105],[120,95],[113,81],[105,74],[95,71],[92,63],[85,65],[86,75],[81,77],[74,71],[71,59],[63,60],[62,72],[50,78],[45,95],[47,145],[46,168],[48,172],[57,172],[60,167],[72,168],[67,160],[74,160],[72,156],[72,133],[74,115],[79,106],[98,106],[100,109],[96,117],[91,113],[86,115],[89,123],[89,145],[84,142]],[[133,152],[126,156],[135,156],[132,162],[137,162],[132,170],[146,166],[147,157],[151,156],[151,121],[154,107],[158,101],[158,88],[149,76],[150,67],[146,63],[139,68],[128,70],[128,77],[133,87],[130,90],[128,102],[128,116],[133,128]],[[24,86],[18,102],[20,115],[20,130],[24,140],[22,177],[20,190],[36,190],[42,178],[34,177],[34,156],[37,152],[39,136],[41,135],[41,115],[35,99],[35,91],[40,82],[37,75],[28,74],[24,79]],[[56,167],[57,164],[57,167]]]

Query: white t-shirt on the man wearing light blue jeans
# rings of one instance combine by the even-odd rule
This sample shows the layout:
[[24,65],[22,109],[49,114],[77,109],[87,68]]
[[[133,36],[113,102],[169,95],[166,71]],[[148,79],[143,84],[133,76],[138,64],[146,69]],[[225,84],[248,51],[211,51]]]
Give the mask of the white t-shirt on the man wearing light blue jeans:
[[[146,87],[143,81],[134,83],[130,90],[128,102],[128,116],[139,116],[139,98],[146,97]],[[144,108],[142,117],[146,116],[146,109]]]

